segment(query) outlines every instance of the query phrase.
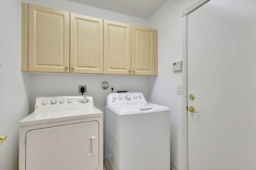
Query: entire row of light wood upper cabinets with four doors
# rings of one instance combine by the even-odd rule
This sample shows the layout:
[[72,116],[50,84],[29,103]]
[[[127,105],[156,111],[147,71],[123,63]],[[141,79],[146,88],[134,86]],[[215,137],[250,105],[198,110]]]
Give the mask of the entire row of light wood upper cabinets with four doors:
[[157,75],[157,30],[22,2],[22,71]]

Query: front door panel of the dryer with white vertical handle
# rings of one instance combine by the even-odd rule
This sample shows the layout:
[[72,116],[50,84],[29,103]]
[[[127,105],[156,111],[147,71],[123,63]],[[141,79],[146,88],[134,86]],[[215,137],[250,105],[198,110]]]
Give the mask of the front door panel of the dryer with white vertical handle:
[[26,133],[26,170],[96,170],[97,121],[37,129]]

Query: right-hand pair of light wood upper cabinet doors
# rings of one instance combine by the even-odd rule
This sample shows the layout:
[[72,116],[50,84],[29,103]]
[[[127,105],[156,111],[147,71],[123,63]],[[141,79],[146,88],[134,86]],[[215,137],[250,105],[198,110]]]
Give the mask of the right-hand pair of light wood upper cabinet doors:
[[157,75],[155,31],[104,20],[104,74]]

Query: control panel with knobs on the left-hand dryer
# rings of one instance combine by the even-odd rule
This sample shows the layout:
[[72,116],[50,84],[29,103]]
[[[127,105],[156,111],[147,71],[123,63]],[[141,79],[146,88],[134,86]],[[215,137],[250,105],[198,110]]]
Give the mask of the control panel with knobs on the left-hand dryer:
[[93,105],[92,96],[55,96],[36,98],[35,109]]

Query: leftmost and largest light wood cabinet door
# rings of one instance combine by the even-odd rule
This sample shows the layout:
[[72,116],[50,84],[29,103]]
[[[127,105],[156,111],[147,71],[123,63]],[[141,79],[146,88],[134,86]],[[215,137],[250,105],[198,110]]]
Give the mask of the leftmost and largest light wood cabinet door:
[[69,72],[68,68],[69,12],[28,4],[28,71]]

